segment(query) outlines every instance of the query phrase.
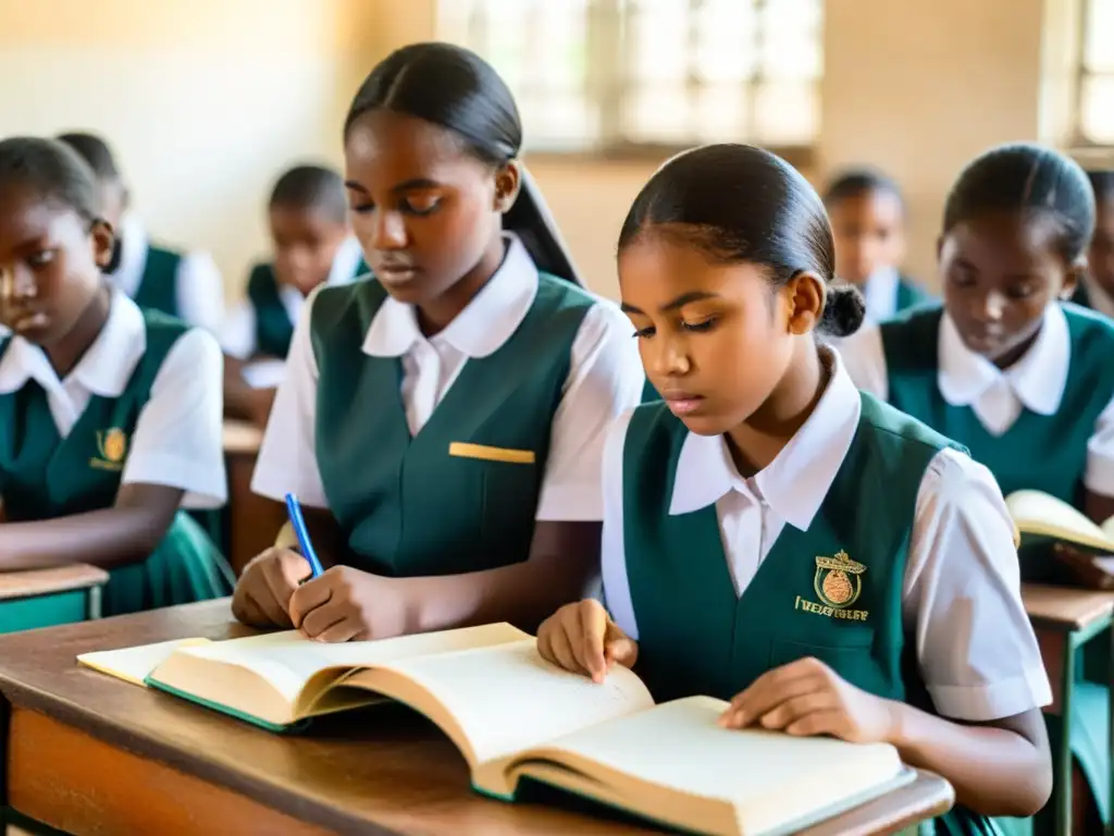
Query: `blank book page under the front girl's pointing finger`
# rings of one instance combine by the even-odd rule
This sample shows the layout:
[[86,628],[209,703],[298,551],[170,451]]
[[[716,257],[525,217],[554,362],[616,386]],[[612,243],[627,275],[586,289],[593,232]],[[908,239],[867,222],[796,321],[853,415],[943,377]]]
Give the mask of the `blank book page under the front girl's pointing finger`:
[[532,638],[380,667],[432,694],[468,737],[477,764],[654,704],[626,668],[616,665],[597,684],[546,662]]

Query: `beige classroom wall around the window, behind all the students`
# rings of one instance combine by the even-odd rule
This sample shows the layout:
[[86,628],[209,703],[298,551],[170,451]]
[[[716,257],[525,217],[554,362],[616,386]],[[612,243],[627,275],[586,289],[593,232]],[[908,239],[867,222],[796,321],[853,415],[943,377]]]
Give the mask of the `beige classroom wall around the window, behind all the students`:
[[[913,269],[930,283],[948,184],[981,148],[1046,135],[1049,54],[1075,0],[829,0],[815,172],[870,161],[906,187]],[[0,0],[0,135],[108,135],[154,232],[211,250],[229,295],[265,252],[285,165],[340,162],[340,123],[390,49],[434,35],[434,0]],[[1067,31],[1068,27],[1062,27]],[[1062,43],[1062,41],[1057,41]],[[1063,50],[1057,54],[1065,61]],[[1044,99],[1038,96],[1044,89]],[[656,161],[528,164],[593,286]]]

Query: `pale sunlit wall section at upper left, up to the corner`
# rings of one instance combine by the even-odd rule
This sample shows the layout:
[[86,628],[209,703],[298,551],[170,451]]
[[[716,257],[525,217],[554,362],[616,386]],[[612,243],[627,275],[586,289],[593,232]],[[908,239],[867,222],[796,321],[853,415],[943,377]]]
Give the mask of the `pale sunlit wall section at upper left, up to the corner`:
[[238,294],[277,169],[340,161],[363,6],[0,0],[0,135],[108,136],[153,234],[209,250]]

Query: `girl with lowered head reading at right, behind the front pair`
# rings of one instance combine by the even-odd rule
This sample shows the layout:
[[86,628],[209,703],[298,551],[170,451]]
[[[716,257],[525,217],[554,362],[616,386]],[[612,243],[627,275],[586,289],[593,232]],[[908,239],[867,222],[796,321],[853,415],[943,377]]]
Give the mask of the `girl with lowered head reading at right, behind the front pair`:
[[[942,307],[866,329],[840,351],[861,388],[966,445],[1007,496],[1042,490],[1102,523],[1114,514],[1114,323],[1061,304],[1086,271],[1094,205],[1084,172],[1051,148],[986,152],[945,206]],[[1052,580],[1046,550],[1020,556],[1023,577]],[[1072,737],[1097,801],[1087,816],[1106,818],[1102,661],[1088,665],[1095,682],[1076,684]]]

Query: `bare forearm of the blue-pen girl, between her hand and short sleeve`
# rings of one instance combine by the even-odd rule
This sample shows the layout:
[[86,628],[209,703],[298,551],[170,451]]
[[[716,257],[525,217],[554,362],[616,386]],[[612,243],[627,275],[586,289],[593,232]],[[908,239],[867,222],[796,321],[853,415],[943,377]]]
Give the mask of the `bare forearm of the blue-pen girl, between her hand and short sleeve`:
[[414,630],[507,621],[534,632],[549,615],[585,597],[596,564],[571,555],[534,557],[501,568],[399,580],[413,602]]

